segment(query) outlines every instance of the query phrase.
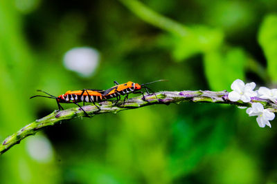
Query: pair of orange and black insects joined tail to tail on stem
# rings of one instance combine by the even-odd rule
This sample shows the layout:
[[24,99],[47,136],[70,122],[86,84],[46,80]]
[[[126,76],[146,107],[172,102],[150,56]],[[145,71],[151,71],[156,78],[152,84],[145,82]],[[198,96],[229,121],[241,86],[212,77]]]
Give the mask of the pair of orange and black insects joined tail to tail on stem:
[[[167,80],[159,80],[159,81],[167,81]],[[152,81],[150,83],[156,83],[159,81]],[[57,101],[57,107],[59,108],[59,110],[61,110],[61,109],[64,110],[64,108],[62,108],[62,105],[60,105],[60,103],[75,103],[75,105],[78,105],[79,108],[81,108],[81,110],[84,111],[83,108],[78,103],[83,102],[83,105],[84,105],[84,103],[87,102],[87,103],[93,103],[93,105],[96,105],[95,102],[97,102],[97,101],[103,101],[106,99],[116,98],[116,103],[115,103],[115,105],[116,105],[118,103],[118,101],[120,101],[120,96],[126,95],[124,98],[124,101],[123,101],[123,105],[124,105],[125,100],[128,99],[129,93],[143,94],[143,92],[139,91],[142,88],[145,88],[145,90],[148,94],[150,94],[150,92],[152,92],[154,94],[154,92],[146,86],[150,83],[144,83],[141,85],[139,85],[139,83],[133,83],[131,81],[129,81],[127,83],[123,83],[123,84],[119,84],[116,81],[114,81],[114,83],[116,85],[107,90],[86,90],[86,89],[84,89],[84,90],[77,90],[77,91],[67,91],[65,94],[62,94],[60,96],[53,96],[52,94],[48,94],[47,92],[44,92],[42,90],[37,90],[39,92],[44,92],[45,94],[48,94],[49,96],[35,95],[35,96],[31,96],[30,99],[33,99],[34,97],[37,97],[37,96],[41,96],[41,97],[45,97],[45,98],[49,98],[49,99],[55,99]],[[143,100],[146,101],[144,94],[143,94]],[[96,107],[98,108],[98,110],[100,110],[98,105],[96,105]],[[84,111],[84,113],[88,116],[87,112]]]

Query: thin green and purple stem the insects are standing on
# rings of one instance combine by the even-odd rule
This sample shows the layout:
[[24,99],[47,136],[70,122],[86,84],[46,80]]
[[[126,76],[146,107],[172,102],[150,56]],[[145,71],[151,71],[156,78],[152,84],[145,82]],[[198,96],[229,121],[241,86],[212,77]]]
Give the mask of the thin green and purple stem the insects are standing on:
[[[182,92],[157,92],[156,94],[145,94],[144,101],[143,96],[137,96],[132,99],[128,99],[125,101],[123,105],[123,101],[119,101],[119,105],[114,105],[115,101],[102,101],[98,103],[100,110],[96,108],[94,105],[86,105],[83,109],[89,114],[89,116],[95,116],[97,114],[102,113],[114,113],[120,112],[121,110],[130,110],[134,108],[141,108],[147,105],[154,104],[166,104],[170,103],[181,103],[181,102],[207,102],[207,103],[226,103],[233,104],[238,106],[250,107],[251,103],[243,103],[242,101],[232,102],[228,99],[228,92],[211,92],[211,91],[182,91]],[[276,103],[272,103],[271,101],[267,101],[265,99],[259,99],[254,97],[251,99],[252,102],[260,102],[265,108],[269,108],[271,112],[277,112]],[[121,103],[121,104],[120,104]],[[86,114],[80,108],[71,108],[68,110],[57,111],[55,110],[48,116],[45,116],[42,119],[37,119],[33,123],[22,127],[18,132],[8,136],[8,138],[3,141],[0,145],[0,154],[3,154],[7,150],[10,149],[15,144],[20,143],[20,141],[26,136],[34,135],[39,130],[42,130],[44,127],[48,127],[50,125],[55,125],[56,123],[60,123],[60,121],[64,119],[73,119],[84,117]]]

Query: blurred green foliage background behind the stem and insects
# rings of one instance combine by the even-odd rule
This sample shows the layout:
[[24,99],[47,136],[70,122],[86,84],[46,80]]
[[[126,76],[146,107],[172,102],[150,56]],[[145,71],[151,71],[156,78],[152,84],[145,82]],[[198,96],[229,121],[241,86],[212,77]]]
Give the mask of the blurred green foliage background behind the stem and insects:
[[[170,82],[155,91],[230,90],[235,79],[274,88],[276,10],[274,0],[1,0],[0,139],[57,109],[30,100],[37,89],[157,79]],[[73,48],[94,54],[92,72],[68,69]],[[1,155],[0,183],[277,183],[271,124],[208,103],[62,121]]]

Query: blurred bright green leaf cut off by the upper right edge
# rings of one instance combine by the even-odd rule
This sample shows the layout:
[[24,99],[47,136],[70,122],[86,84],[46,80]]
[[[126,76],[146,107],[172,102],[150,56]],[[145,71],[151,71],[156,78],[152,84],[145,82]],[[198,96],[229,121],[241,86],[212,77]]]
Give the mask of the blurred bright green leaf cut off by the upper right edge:
[[258,41],[267,58],[267,72],[272,81],[277,82],[277,15],[265,17],[258,33]]

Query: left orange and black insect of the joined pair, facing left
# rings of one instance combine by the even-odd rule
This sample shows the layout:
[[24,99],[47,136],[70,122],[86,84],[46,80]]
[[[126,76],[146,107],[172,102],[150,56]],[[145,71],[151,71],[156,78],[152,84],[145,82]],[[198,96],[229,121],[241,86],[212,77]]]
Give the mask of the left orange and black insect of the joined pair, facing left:
[[[42,90],[37,90],[38,92],[44,92]],[[48,94],[47,92],[44,92],[45,94],[48,94],[49,96],[43,96],[43,95],[35,95],[31,96],[30,99],[33,99],[34,97],[41,96],[49,99],[55,99],[57,101],[57,107],[59,110],[64,110],[62,108],[62,105],[60,103],[74,103],[75,105],[78,105],[79,108],[82,107],[78,104],[79,102],[83,102],[83,105],[85,102],[93,103],[93,105],[96,105],[94,102],[96,101],[102,101],[105,99],[105,96],[102,96],[101,92],[105,92],[104,90],[76,90],[76,91],[67,91],[64,94],[60,96],[53,96],[52,94]],[[98,110],[100,108],[96,105]],[[84,111],[84,113],[88,116],[87,112]]]

